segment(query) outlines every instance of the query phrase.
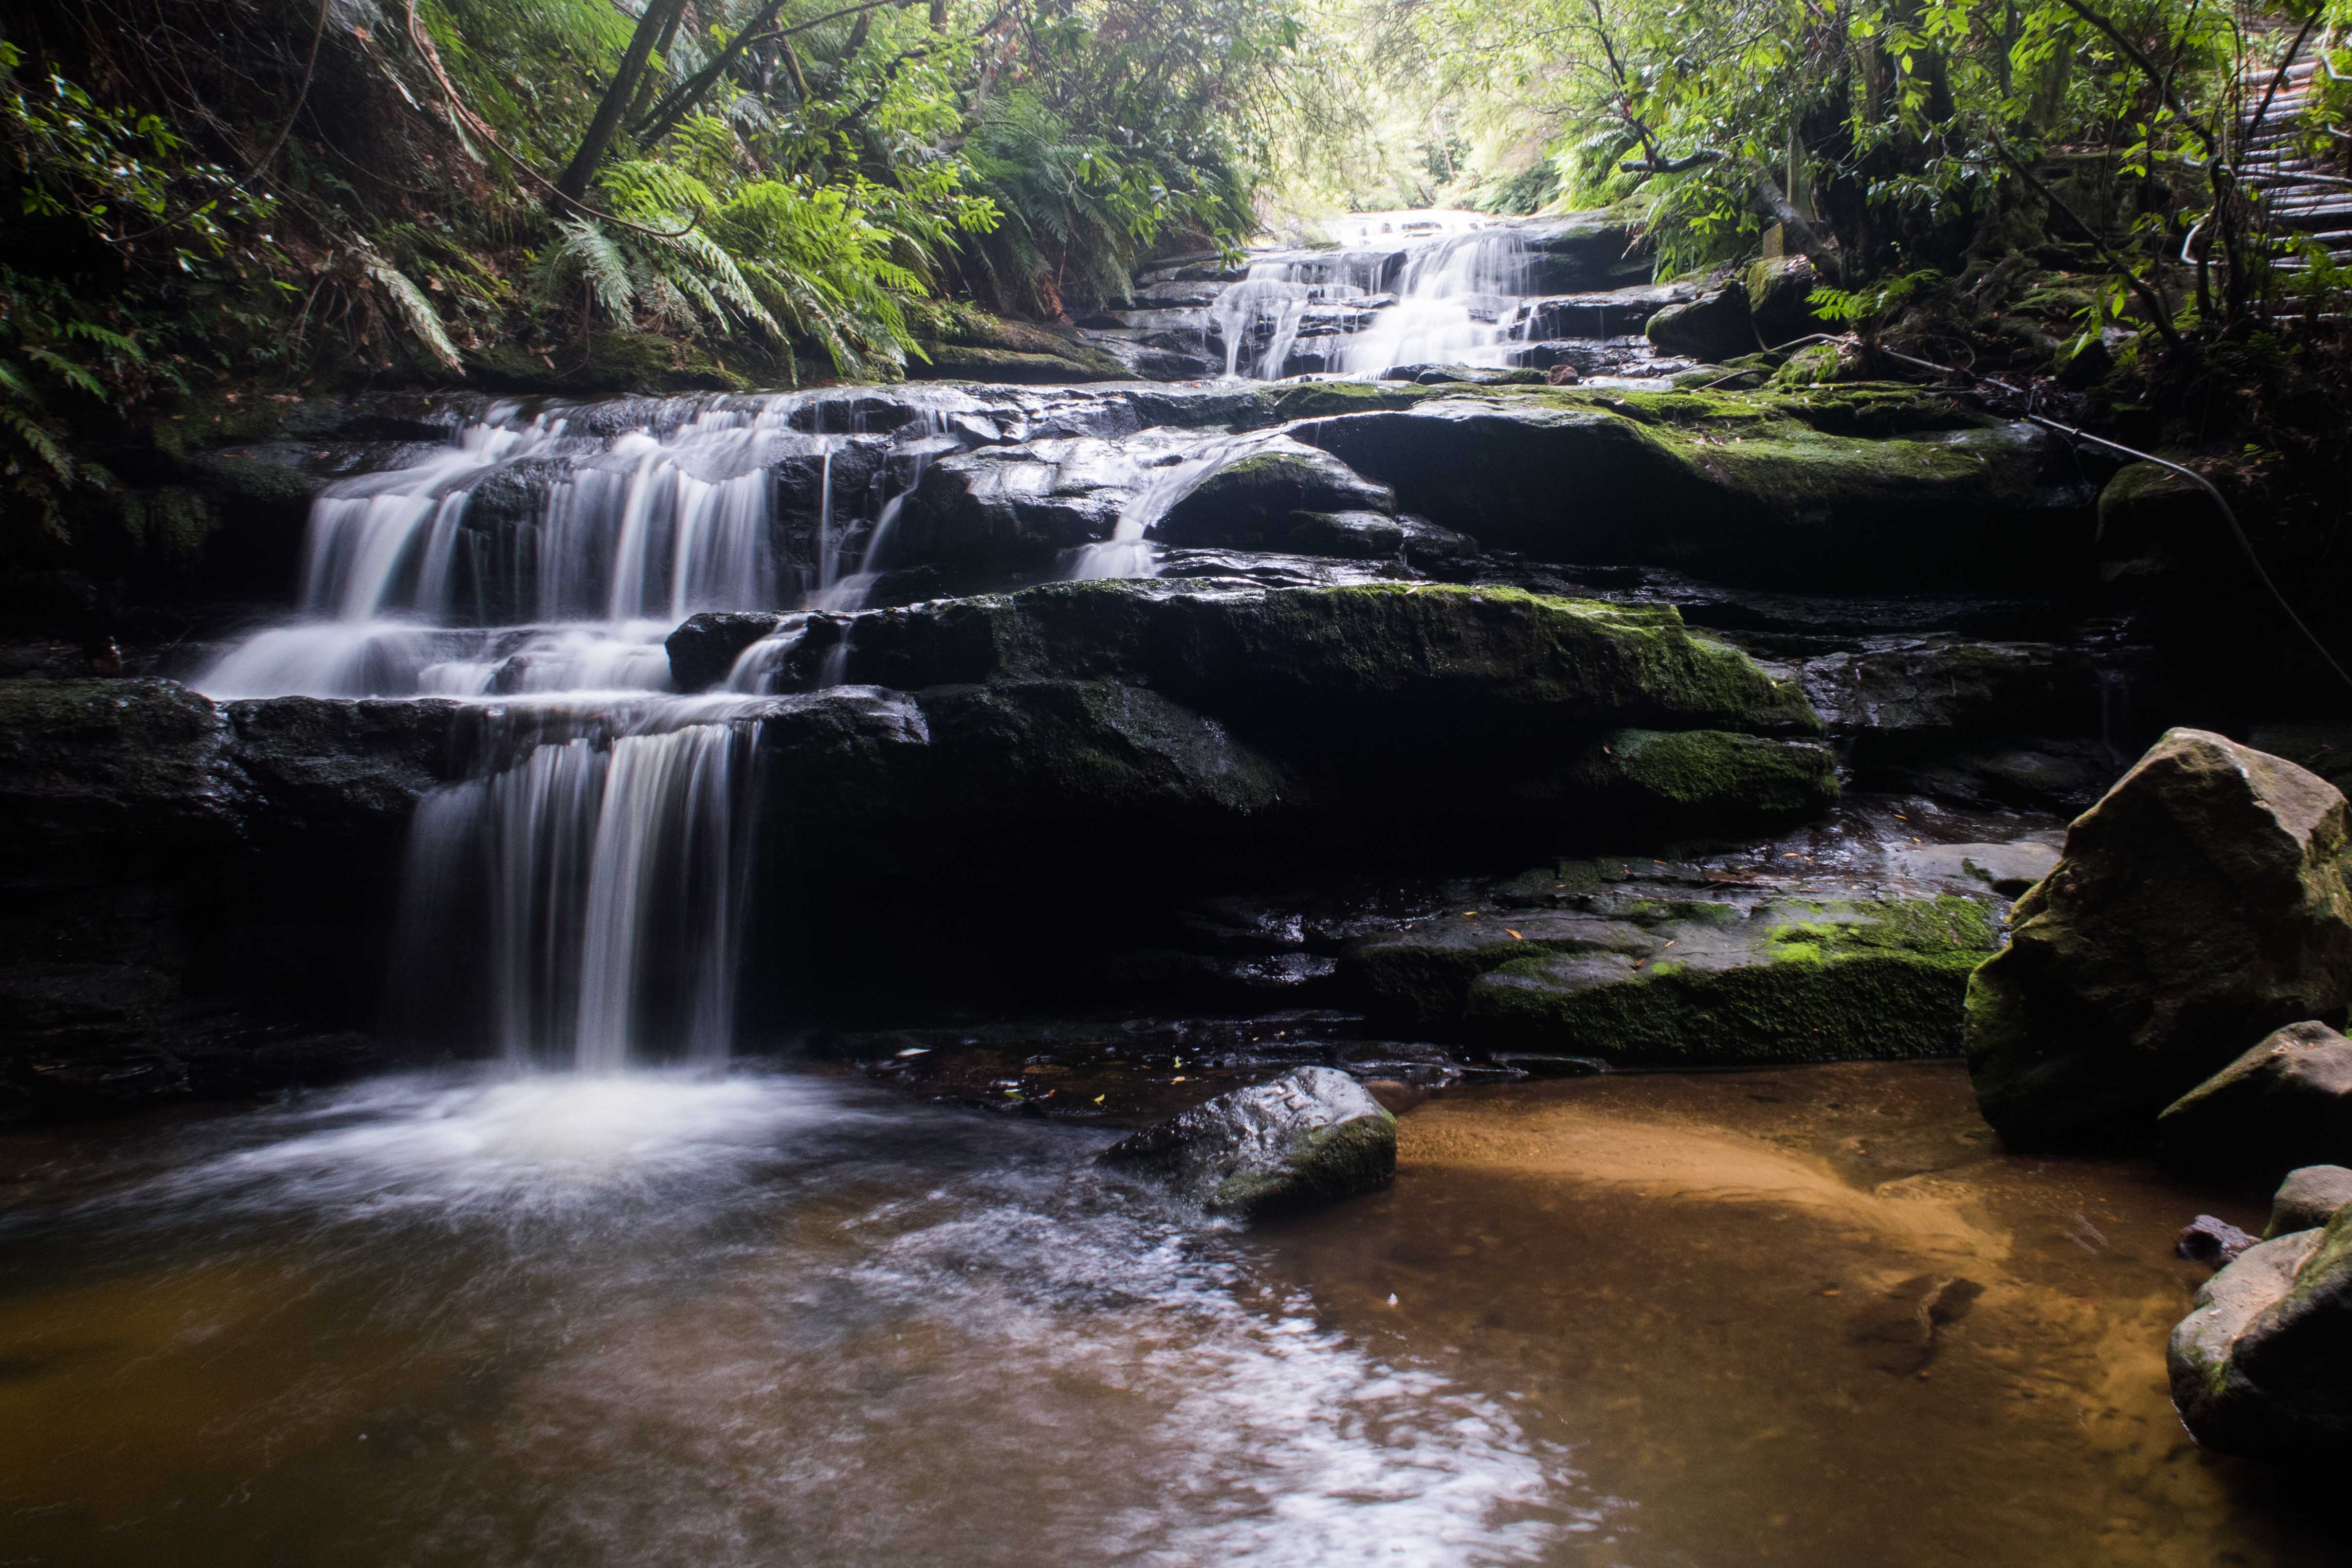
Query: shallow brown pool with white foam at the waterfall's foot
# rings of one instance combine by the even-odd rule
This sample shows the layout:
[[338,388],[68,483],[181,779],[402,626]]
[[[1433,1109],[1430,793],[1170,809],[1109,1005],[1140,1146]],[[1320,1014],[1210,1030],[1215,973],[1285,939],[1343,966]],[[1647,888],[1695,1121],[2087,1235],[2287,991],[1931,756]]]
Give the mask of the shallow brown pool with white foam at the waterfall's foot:
[[1461,1091],[1258,1232],[1101,1140],[790,1072],[0,1135],[0,1563],[2340,1561],[2164,1394],[2258,1204],[1957,1065]]

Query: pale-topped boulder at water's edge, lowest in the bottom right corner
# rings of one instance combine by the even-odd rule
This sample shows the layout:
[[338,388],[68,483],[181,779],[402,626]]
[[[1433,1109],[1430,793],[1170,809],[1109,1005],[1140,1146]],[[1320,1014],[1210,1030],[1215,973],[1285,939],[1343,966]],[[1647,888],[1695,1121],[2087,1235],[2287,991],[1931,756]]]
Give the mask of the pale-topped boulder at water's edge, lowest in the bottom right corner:
[[2249,1248],[2173,1328],[2173,1403],[2206,1448],[2340,1462],[2352,1450],[2352,1208]]

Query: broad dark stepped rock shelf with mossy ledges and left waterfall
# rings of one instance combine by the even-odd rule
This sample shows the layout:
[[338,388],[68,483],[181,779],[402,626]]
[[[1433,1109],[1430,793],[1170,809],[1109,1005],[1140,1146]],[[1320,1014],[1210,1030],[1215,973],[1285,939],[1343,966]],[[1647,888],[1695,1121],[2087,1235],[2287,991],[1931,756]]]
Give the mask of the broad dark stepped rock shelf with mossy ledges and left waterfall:
[[[1910,388],[374,397],[245,435],[191,447],[247,498],[212,548],[282,552],[299,501],[308,616],[183,649],[195,689],[5,693],[19,1105],[974,1001],[1336,1006],[1449,1072],[1945,1053],[1889,1020],[1957,1006],[1983,863],[2161,717],[2145,649],[2032,592],[2091,548],[2072,463]],[[1806,823],[1835,867],[1762,849]],[[1595,853],[1656,886],[1470,947],[1418,912]],[[1797,865],[1726,872],[1757,853]],[[1348,931],[1279,952],[1185,912],[1334,877]],[[419,940],[435,985],[379,1006]]]

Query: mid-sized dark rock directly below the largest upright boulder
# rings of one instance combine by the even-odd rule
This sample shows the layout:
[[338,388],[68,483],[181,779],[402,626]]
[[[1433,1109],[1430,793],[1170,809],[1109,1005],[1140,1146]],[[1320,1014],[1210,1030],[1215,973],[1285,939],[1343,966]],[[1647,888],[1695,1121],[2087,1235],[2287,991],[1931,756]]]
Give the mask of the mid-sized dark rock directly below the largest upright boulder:
[[2244,1182],[2352,1161],[2352,1039],[2324,1023],[2277,1030],[2164,1107],[2157,1159]]

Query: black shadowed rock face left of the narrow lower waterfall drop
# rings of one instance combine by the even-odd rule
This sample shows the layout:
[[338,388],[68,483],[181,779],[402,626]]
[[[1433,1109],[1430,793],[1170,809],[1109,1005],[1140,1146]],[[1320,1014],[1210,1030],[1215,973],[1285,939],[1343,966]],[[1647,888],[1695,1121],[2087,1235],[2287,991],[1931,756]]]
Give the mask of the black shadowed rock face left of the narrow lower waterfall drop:
[[456,776],[454,715],[0,684],[0,1117],[386,1060],[350,1023],[376,994],[407,820]]

